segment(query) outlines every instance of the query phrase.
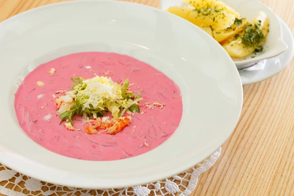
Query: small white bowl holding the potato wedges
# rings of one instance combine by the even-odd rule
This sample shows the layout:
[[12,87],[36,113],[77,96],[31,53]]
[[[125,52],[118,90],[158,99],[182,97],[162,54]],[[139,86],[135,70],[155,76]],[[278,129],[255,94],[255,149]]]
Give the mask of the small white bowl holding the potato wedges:
[[[237,12],[241,16],[251,21],[254,19],[259,11],[264,11],[270,19],[270,32],[268,34],[266,43],[264,45],[264,51],[260,54],[249,55],[246,58],[232,58],[238,69],[244,69],[251,66],[253,63],[275,57],[284,52],[288,46],[282,40],[281,25],[276,15],[270,10],[269,7],[259,2],[258,0],[221,0]],[[188,4],[182,3],[181,0],[161,0],[161,9],[166,10],[171,6],[186,6]],[[253,57],[254,56],[254,57]]]

